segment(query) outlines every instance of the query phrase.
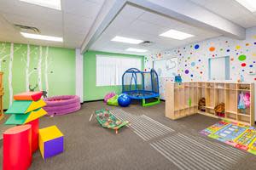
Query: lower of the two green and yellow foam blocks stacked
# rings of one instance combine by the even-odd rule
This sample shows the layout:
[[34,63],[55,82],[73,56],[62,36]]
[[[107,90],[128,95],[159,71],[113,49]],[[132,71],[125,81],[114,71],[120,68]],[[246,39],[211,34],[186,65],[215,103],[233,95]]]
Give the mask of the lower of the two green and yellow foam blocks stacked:
[[31,111],[25,115],[23,114],[14,114],[9,116],[9,119],[4,123],[6,125],[22,125],[26,124],[27,122],[32,122],[35,119],[38,119],[41,116],[46,115],[47,112],[44,111],[43,108],[40,108],[36,111]]

